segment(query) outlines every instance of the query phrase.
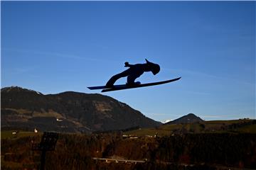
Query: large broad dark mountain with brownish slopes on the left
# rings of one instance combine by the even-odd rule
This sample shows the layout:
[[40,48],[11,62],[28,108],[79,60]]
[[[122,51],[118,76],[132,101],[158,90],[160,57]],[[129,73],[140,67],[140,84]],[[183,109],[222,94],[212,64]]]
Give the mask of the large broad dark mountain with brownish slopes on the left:
[[160,124],[101,94],[66,91],[44,95],[18,86],[1,89],[1,128],[4,129],[92,132]]

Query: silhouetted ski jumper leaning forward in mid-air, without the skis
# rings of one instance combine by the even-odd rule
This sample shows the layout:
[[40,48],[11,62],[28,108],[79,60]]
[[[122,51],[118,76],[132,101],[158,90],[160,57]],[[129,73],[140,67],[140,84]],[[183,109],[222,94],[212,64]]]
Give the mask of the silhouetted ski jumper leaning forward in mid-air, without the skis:
[[128,86],[134,85],[134,84],[140,84],[139,81],[137,82],[134,82],[134,81],[135,79],[140,77],[144,72],[152,72],[154,75],[156,75],[160,71],[159,64],[154,64],[153,62],[149,62],[148,60],[146,60],[145,64],[129,64],[129,62],[125,62],[124,67],[129,67],[129,69],[111,77],[110,80],[107,81],[107,84],[106,84],[107,87],[113,87],[114,82],[117,81],[117,79],[120,79],[122,77],[127,77]]

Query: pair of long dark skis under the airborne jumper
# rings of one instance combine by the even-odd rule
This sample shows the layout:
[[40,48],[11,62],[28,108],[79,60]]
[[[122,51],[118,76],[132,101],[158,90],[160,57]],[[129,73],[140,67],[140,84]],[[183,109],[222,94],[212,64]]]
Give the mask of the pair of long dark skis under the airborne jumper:
[[156,86],[159,84],[167,84],[173,81],[177,81],[181,79],[181,77],[178,77],[176,79],[170,79],[166,81],[158,81],[154,83],[147,83],[147,84],[134,84],[134,85],[127,85],[127,84],[120,84],[120,85],[114,85],[112,87],[107,87],[107,86],[90,86],[87,87],[90,90],[99,90],[102,89],[102,92],[107,92],[107,91],[118,91],[118,90],[124,90],[124,89],[134,89],[134,88],[139,88],[139,87],[145,87],[145,86]]

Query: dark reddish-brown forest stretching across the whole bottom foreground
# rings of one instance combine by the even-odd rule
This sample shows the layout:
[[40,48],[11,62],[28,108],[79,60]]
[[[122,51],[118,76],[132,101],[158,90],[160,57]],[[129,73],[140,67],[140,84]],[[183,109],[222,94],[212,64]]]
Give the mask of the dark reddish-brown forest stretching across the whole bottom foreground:
[[[31,150],[40,137],[1,140],[1,169],[38,169],[41,152]],[[146,160],[144,164],[95,162],[92,157]],[[11,164],[19,164],[12,166]],[[256,169],[254,134],[185,134],[122,139],[117,133],[60,135],[46,169],[217,169],[215,164]],[[220,169],[220,168],[218,168]]]

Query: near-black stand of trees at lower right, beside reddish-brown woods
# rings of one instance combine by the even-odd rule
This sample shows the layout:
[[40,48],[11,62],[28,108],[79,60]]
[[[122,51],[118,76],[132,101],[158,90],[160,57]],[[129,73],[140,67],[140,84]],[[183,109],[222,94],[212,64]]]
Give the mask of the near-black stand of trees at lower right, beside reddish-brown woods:
[[256,168],[256,135],[253,134],[186,134],[161,137],[158,142],[156,160]]

